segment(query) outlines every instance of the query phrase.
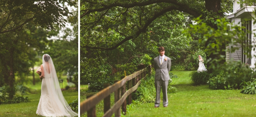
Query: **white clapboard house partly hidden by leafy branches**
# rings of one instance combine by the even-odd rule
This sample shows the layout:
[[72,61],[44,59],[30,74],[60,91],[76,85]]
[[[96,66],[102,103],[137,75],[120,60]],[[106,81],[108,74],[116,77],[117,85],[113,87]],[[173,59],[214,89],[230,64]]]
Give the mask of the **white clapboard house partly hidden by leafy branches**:
[[[226,17],[230,19],[230,22],[232,22],[234,25],[240,25],[240,26],[242,25],[246,27],[244,29],[244,32],[246,32],[246,30],[250,30],[250,31],[256,30],[256,25],[253,23],[254,19],[251,18],[251,17],[255,17],[255,13],[253,11],[255,10],[256,5],[255,3],[250,6],[248,6],[249,4],[247,3],[240,4],[242,1],[243,0],[233,0],[233,14]],[[241,22],[243,21],[243,19],[250,19],[250,20],[246,22]],[[253,31],[250,34],[246,33],[246,38],[244,40],[244,44],[246,46],[254,45],[254,42],[255,42],[254,34],[256,34],[256,31]],[[229,50],[231,46],[238,47],[239,49],[231,53],[231,51]],[[226,62],[229,63],[231,61],[241,61],[241,63],[249,64],[250,68],[255,68],[256,59],[254,55],[256,54],[256,51],[254,51],[253,49],[251,49],[251,51],[246,51],[244,49],[246,46],[241,46],[241,44],[227,45],[226,50],[229,50],[229,51],[226,51]],[[244,55],[243,53],[245,52],[251,54],[252,58],[248,58],[246,55]]]

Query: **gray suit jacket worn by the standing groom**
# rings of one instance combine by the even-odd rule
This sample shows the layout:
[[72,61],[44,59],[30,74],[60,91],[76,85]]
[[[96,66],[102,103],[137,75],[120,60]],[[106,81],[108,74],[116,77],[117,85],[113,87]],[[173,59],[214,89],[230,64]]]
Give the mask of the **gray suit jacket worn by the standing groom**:
[[160,80],[162,78],[163,81],[167,81],[170,79],[169,71],[171,70],[171,59],[167,56],[167,61],[164,60],[162,65],[159,61],[159,56],[154,58],[154,69],[155,69],[155,80]]

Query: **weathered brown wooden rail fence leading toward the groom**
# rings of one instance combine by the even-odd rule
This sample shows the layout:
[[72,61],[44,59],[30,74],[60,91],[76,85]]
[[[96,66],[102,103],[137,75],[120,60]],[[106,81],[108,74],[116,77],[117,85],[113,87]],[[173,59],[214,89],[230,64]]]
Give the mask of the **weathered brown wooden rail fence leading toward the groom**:
[[[88,117],[96,117],[96,104],[104,99],[104,115],[103,117],[111,117],[115,113],[115,117],[121,117],[122,111],[126,114],[126,100],[128,105],[132,103],[132,93],[137,91],[142,78],[145,78],[146,68],[137,71],[123,79],[116,81],[114,84],[104,84],[104,89],[95,95],[87,96],[87,99],[80,104],[80,115],[87,111]],[[148,74],[151,75],[151,65],[148,66]],[[127,88],[126,88],[127,83]],[[127,90],[126,90],[127,89]],[[110,94],[114,92],[114,105],[110,108]]]

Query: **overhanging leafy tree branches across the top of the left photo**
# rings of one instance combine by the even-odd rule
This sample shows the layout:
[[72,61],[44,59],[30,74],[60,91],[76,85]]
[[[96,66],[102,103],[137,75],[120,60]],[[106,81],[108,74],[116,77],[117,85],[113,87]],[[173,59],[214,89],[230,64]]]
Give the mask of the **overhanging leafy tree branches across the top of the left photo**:
[[47,2],[1,0],[0,34],[26,27],[31,22],[47,29],[54,29],[54,23],[61,28],[65,27],[67,22],[65,16],[71,12],[64,4],[75,6],[76,2],[76,0],[48,0]]

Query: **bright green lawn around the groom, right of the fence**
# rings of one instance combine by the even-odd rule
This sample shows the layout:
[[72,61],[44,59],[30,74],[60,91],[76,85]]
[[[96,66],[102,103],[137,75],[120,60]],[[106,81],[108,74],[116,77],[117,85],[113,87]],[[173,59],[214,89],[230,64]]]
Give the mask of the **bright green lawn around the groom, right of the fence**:
[[[211,90],[208,85],[192,86],[191,71],[172,71],[172,86],[177,93],[168,94],[169,105],[154,108],[154,103],[132,104],[125,117],[255,117],[256,95],[240,90]],[[154,87],[154,86],[152,86]]]

